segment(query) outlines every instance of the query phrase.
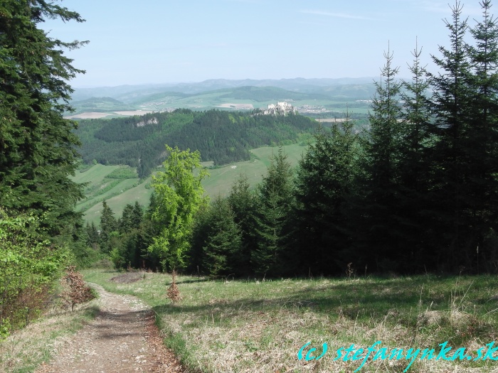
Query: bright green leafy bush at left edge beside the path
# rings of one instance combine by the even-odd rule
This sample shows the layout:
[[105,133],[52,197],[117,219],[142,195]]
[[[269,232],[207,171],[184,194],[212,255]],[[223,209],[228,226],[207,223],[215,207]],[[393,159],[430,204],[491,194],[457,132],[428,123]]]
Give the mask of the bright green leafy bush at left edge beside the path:
[[53,280],[71,259],[67,248],[43,239],[40,225],[36,216],[14,217],[0,208],[0,339],[6,329],[38,314]]

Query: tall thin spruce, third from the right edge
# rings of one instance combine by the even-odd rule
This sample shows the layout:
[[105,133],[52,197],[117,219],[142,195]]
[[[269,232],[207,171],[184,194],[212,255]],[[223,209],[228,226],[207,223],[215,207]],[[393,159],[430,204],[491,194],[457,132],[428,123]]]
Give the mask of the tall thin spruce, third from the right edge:
[[[413,64],[409,66],[412,79],[403,82],[403,112],[401,113],[398,160],[398,222],[403,236],[403,259],[406,271],[427,266],[431,249],[428,232],[430,221],[426,211],[430,180],[430,151],[433,141],[430,132],[430,104],[426,96],[430,88],[428,72],[421,65],[422,49],[415,45]],[[418,267],[418,268],[417,268]]]

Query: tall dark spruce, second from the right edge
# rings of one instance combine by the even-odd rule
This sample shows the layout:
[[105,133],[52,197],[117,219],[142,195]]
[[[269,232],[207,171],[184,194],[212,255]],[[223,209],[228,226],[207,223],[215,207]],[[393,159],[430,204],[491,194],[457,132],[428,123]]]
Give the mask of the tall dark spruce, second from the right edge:
[[436,261],[446,269],[472,263],[470,252],[477,242],[472,229],[473,167],[478,150],[472,138],[475,109],[475,89],[472,60],[465,43],[467,20],[462,20],[462,6],[455,2],[452,19],[445,21],[450,31],[450,48],[440,47],[441,58],[433,60],[441,73],[431,75],[433,94],[433,136],[436,141],[433,161],[433,226],[440,242]]

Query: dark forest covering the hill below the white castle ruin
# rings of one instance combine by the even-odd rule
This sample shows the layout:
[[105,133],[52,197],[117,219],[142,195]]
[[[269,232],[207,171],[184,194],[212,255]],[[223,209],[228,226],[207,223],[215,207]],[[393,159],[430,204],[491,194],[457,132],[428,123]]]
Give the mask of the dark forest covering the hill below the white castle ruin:
[[164,161],[164,144],[201,152],[202,161],[216,166],[248,161],[249,150],[263,145],[297,141],[317,128],[316,121],[299,114],[286,116],[209,110],[152,113],[142,117],[80,121],[75,134],[83,161],[127,164],[140,178]]

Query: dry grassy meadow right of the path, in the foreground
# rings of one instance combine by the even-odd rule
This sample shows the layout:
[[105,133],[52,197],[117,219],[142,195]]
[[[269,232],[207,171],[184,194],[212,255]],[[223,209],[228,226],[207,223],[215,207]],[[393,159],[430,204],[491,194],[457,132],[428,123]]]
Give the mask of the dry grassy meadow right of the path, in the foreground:
[[[358,352],[355,361],[351,351],[366,351],[376,341],[381,341],[376,350],[384,347],[381,353],[387,355],[373,361],[373,352],[359,372],[407,368],[408,372],[496,372],[498,368],[497,362],[482,360],[485,345],[498,337],[497,276],[273,281],[180,276],[183,299],[172,304],[165,296],[171,276],[144,273],[139,281],[122,283],[130,275],[124,273],[120,283],[110,281],[118,275],[85,271],[88,281],[138,296],[152,306],[166,345],[192,372],[355,372],[365,354]],[[455,361],[435,359],[446,341],[445,347],[452,347],[447,358],[465,348],[456,353]],[[311,344],[299,360],[298,352],[307,342]],[[311,359],[322,354],[324,343],[328,347],[324,356]],[[340,347],[352,350],[337,352]],[[403,349],[405,355],[389,359],[394,348]],[[406,359],[410,348],[420,349],[413,362]],[[434,357],[421,359],[423,349],[434,349]],[[465,357],[462,361],[459,354]],[[496,360],[498,352],[492,357]]]

